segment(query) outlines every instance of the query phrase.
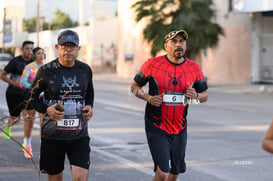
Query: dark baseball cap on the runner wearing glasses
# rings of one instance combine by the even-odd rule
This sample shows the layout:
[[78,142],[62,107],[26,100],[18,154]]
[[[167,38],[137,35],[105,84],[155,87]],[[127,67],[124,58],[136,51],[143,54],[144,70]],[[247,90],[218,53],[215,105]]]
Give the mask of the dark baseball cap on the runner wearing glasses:
[[79,45],[79,35],[77,32],[72,30],[62,31],[58,36],[58,44],[63,45],[65,43],[73,43]]

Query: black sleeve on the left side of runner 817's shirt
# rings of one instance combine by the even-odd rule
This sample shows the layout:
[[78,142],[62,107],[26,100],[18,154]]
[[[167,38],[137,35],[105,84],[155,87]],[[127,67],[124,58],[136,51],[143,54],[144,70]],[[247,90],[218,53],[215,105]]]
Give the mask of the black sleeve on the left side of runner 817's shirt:
[[36,74],[36,77],[29,89],[29,97],[31,98],[30,106],[33,107],[39,113],[46,113],[48,106],[40,99],[40,94],[45,90],[45,82],[42,68],[40,68]]

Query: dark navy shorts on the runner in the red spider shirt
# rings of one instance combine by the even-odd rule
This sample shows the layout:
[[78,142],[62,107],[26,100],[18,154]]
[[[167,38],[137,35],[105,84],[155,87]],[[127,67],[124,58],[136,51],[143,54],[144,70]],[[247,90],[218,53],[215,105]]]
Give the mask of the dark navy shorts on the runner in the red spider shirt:
[[170,135],[159,128],[146,130],[149,148],[157,166],[167,173],[178,175],[186,171],[185,151],[187,144],[187,128],[177,135]]

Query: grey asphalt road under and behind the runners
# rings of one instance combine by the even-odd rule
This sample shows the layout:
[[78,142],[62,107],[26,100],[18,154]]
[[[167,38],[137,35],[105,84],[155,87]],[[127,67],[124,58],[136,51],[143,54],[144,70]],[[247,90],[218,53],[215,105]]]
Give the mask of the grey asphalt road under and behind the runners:
[[[145,102],[129,93],[129,79],[95,76],[91,135],[91,181],[151,181],[153,163],[144,133]],[[271,181],[273,155],[261,149],[272,120],[273,96],[256,86],[212,86],[205,104],[190,106],[188,116],[187,181]],[[0,82],[0,111],[7,115],[5,84]],[[2,127],[2,123],[0,124]],[[23,122],[13,127],[23,140]],[[39,174],[39,122],[33,129],[34,159],[23,156],[19,144],[0,137],[0,180],[47,180]],[[66,162],[64,180],[71,180]]]

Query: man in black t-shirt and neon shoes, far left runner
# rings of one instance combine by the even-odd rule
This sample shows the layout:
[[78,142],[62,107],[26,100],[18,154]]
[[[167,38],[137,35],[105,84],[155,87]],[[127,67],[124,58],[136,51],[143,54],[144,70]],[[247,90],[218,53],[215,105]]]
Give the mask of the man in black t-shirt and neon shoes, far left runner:
[[[25,68],[25,65],[32,62],[32,49],[34,42],[32,41],[24,41],[22,44],[22,55],[15,57],[10,60],[10,62],[6,65],[4,70],[0,73],[0,78],[7,82],[8,88],[6,90],[6,101],[9,110],[9,120],[7,125],[4,127],[4,137],[6,139],[10,139],[11,135],[11,125],[18,122],[20,120],[20,114],[23,113],[23,117],[26,117],[27,112],[24,109],[24,99],[25,99],[25,90],[21,89],[19,86],[21,74]],[[32,129],[32,124],[29,124],[30,119],[24,119],[24,137],[26,138],[25,133],[29,133],[30,129]],[[28,139],[30,135],[28,135]]]

